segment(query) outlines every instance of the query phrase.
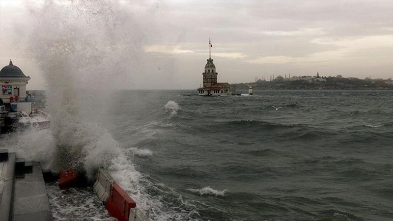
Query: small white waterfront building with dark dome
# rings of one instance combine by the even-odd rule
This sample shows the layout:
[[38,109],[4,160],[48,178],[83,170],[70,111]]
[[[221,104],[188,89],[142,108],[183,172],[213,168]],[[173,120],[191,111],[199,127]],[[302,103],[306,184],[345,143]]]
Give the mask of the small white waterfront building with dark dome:
[[0,98],[4,103],[24,101],[26,94],[26,84],[30,80],[22,70],[15,66],[12,61],[9,65],[0,70],[1,94]]

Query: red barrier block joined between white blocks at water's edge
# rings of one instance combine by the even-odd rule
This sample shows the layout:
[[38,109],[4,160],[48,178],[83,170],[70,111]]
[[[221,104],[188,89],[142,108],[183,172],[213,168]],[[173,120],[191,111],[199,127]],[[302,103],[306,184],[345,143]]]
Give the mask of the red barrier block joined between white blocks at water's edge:
[[113,183],[105,207],[112,217],[119,221],[128,221],[130,209],[137,207],[137,203],[117,183]]

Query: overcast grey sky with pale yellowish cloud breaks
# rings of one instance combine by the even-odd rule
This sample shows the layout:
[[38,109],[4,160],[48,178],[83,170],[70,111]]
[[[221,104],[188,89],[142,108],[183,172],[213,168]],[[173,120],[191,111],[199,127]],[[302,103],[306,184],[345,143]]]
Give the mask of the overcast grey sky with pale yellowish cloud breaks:
[[[117,73],[124,80],[117,82],[118,88],[197,88],[209,56],[209,37],[219,82],[316,72],[393,78],[392,0],[111,2],[133,16],[133,27],[140,32],[132,38],[140,47],[130,57],[133,68]],[[29,89],[43,89],[37,61],[14,45],[16,38],[26,37],[15,25],[29,22],[27,5],[31,1],[0,0],[0,66],[11,58],[32,78]]]

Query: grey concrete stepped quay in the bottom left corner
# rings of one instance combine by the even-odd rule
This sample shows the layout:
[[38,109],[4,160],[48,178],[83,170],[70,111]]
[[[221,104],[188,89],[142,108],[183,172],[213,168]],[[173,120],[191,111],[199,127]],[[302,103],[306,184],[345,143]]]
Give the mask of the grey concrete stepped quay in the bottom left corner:
[[41,164],[6,150],[0,150],[0,159],[0,220],[52,221]]

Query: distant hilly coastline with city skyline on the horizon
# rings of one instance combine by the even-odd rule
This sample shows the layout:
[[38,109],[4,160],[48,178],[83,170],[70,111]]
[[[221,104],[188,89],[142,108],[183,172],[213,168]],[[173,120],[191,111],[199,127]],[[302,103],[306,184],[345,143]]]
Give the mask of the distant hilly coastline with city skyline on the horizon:
[[340,75],[336,77],[319,77],[317,76],[299,76],[292,78],[283,78],[278,76],[271,81],[258,79],[250,83],[234,83],[237,89],[245,90],[249,86],[253,89],[260,90],[392,90],[393,81],[389,79],[358,79],[343,78]]

